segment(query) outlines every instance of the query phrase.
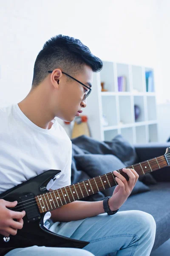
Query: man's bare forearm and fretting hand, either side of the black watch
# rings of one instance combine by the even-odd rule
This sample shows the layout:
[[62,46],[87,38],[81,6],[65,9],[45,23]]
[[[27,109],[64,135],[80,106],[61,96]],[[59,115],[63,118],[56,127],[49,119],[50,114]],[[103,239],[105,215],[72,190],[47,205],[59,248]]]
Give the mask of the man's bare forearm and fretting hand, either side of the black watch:
[[[128,181],[119,172],[113,172],[116,176],[115,179],[118,185],[114,189],[113,195],[108,201],[111,211],[119,209],[122,204],[125,203],[139,178],[139,175],[134,169],[123,169],[123,172],[128,175]],[[104,212],[103,201],[74,201],[51,211],[51,219],[53,221],[61,222],[76,221],[96,216]]]

